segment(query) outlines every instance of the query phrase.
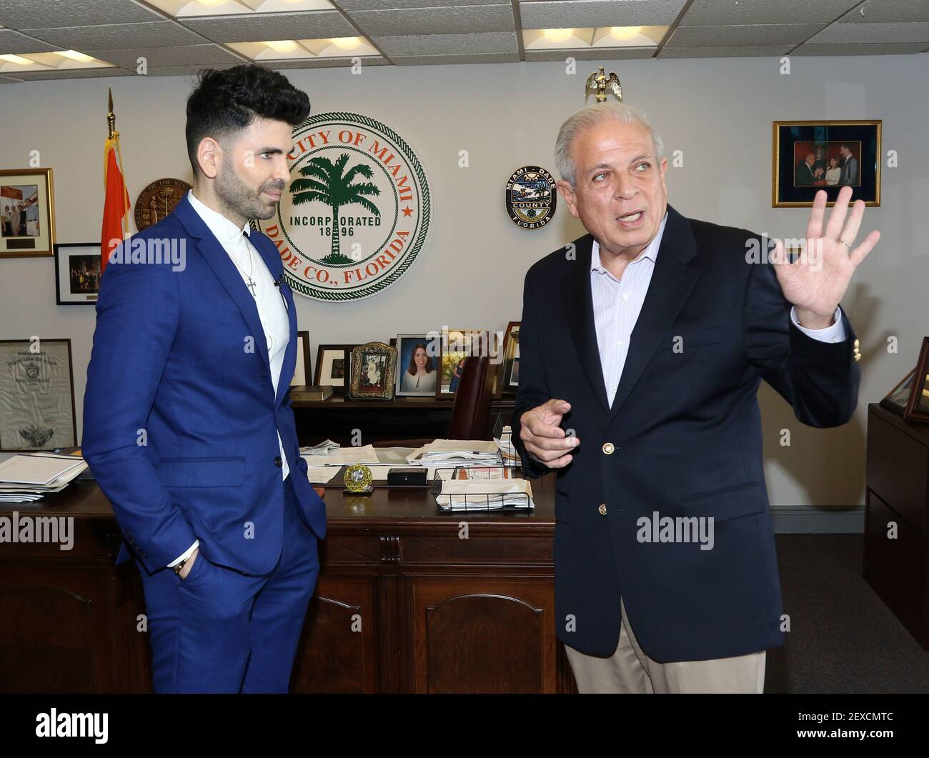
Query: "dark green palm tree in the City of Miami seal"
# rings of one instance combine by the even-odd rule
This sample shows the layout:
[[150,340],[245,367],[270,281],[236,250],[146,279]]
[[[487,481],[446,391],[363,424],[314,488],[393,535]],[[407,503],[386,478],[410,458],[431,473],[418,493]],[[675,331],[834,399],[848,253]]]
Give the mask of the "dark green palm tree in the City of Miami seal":
[[[294,198],[294,205],[309,203],[318,200],[326,203],[333,210],[333,246],[329,255],[322,258],[323,263],[353,263],[354,261],[339,250],[339,209],[358,203],[374,216],[381,212],[365,195],[379,195],[381,190],[373,182],[360,182],[352,184],[355,176],[364,176],[370,179],[373,176],[371,167],[365,163],[356,163],[345,171],[348,163],[348,153],[343,152],[335,159],[335,163],[328,158],[315,157],[307,161],[307,165],[299,170],[304,178],[294,179],[290,190]],[[345,171],[345,173],[343,173]]]

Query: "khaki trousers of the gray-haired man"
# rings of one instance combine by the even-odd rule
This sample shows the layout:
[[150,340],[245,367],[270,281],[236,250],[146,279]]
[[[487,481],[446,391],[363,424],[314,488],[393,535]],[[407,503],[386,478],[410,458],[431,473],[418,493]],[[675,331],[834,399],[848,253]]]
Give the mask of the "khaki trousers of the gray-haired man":
[[620,600],[620,642],[609,658],[598,658],[565,646],[581,693],[761,694],[765,689],[765,650],[716,660],[659,663],[648,658],[633,634]]

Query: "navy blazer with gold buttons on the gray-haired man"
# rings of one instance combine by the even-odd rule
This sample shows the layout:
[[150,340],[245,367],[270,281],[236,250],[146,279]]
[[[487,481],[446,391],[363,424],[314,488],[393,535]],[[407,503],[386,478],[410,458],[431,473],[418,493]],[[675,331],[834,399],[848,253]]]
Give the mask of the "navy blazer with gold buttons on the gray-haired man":
[[[593,238],[576,240],[573,257],[556,250],[526,275],[513,439],[527,477],[549,472],[526,455],[519,419],[550,398],[571,403],[562,427],[581,445],[557,470],[556,630],[583,653],[615,651],[621,596],[654,660],[783,644],[758,386],[765,379],[804,424],[835,426],[855,411],[860,369],[844,311],[841,343],[793,326],[773,266],[746,261],[752,239],[761,246],[751,231],[668,206],[612,406],[592,307]],[[683,351],[674,349],[677,336]],[[713,516],[713,549],[640,541],[638,519],[656,511]]]

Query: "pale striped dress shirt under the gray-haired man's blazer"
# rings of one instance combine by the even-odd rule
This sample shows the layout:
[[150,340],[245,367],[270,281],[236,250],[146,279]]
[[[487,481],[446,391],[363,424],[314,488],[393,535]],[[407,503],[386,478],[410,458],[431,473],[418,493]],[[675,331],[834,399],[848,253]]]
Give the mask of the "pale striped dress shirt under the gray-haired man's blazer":
[[[600,245],[594,241],[594,249],[590,256],[590,285],[594,303],[596,344],[600,349],[600,367],[603,369],[603,381],[610,406],[620,386],[622,367],[629,354],[629,339],[645,302],[648,282],[651,281],[651,275],[655,270],[655,261],[667,220],[668,214],[665,212],[655,239],[648,243],[648,247],[639,253],[635,260],[626,265],[622,272],[622,280],[614,277],[601,265]],[[791,320],[794,325],[820,342],[844,341],[845,327],[838,307],[832,319],[834,323],[824,329],[807,329],[797,320],[796,308],[791,308]]]

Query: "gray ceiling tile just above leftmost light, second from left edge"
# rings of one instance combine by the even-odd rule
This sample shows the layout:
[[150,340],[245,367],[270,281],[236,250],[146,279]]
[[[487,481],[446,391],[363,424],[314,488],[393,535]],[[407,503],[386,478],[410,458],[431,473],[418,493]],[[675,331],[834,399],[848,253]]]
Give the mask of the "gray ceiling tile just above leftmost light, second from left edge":
[[72,50],[128,50],[133,47],[172,47],[203,43],[203,37],[174,21],[33,29],[26,30],[26,33]]

